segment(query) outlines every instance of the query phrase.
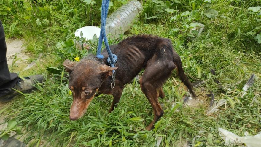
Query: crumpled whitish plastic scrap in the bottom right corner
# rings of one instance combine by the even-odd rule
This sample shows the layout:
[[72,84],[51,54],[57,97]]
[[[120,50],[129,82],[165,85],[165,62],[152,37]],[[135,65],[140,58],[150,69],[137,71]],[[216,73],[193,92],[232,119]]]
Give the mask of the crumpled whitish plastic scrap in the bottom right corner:
[[218,130],[219,136],[225,140],[226,145],[242,145],[245,143],[247,147],[261,147],[261,133],[255,136],[239,137],[225,129],[218,128]]

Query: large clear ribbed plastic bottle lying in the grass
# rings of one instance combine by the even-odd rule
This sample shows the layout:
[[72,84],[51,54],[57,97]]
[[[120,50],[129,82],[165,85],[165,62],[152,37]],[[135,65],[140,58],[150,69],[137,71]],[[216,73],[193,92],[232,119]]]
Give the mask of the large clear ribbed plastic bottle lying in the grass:
[[106,20],[106,34],[109,37],[118,38],[120,34],[130,29],[131,24],[143,9],[139,1],[132,0],[128,4],[122,5],[113,12]]

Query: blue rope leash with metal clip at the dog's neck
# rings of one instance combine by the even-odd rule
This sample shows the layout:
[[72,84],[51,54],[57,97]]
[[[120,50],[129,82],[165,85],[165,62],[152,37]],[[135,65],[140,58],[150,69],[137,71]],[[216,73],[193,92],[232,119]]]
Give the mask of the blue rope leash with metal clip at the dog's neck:
[[[110,4],[110,0],[102,0],[102,3],[101,3],[101,31],[100,31],[100,37],[99,37],[96,57],[100,58],[100,59],[104,58],[104,56],[101,55],[101,45],[102,45],[102,40],[104,40],[104,44],[105,44],[106,50],[109,55],[107,62],[110,64],[111,67],[115,67],[118,58],[116,55],[112,54],[110,47],[109,47],[108,39],[106,36],[106,32],[105,32],[105,25],[106,25],[108,10],[109,10],[109,4]],[[111,88],[113,89],[114,86],[115,86],[115,70],[112,71]]]

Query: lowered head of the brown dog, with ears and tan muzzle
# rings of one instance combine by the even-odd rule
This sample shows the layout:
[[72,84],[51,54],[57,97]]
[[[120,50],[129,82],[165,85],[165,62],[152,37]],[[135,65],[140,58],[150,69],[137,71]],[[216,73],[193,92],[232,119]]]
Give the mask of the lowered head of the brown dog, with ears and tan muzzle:
[[69,72],[69,89],[73,95],[69,118],[77,120],[84,115],[95,92],[118,67],[102,65],[92,59],[82,59],[80,62],[66,59],[63,66]]

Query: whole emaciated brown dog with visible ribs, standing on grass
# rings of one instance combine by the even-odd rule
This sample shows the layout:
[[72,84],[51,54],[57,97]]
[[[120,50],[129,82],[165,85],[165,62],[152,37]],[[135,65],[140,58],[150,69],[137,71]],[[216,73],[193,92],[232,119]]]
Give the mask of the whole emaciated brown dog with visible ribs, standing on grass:
[[[165,97],[162,86],[173,69],[177,68],[179,78],[195,97],[192,85],[182,69],[180,57],[173,50],[169,39],[152,35],[137,35],[128,37],[110,48],[112,53],[118,57],[117,67],[110,67],[107,63],[106,50],[102,52],[104,59],[90,55],[80,62],[69,60],[63,62],[66,71],[70,73],[69,88],[73,92],[74,99],[70,111],[71,120],[83,116],[96,91],[113,95],[113,102],[109,110],[112,112],[120,100],[125,84],[138,75],[141,69],[145,69],[140,79],[141,90],[152,105],[154,112],[153,121],[146,127],[147,130],[151,130],[164,113],[158,97]],[[116,70],[114,89],[111,89],[112,70]]]

